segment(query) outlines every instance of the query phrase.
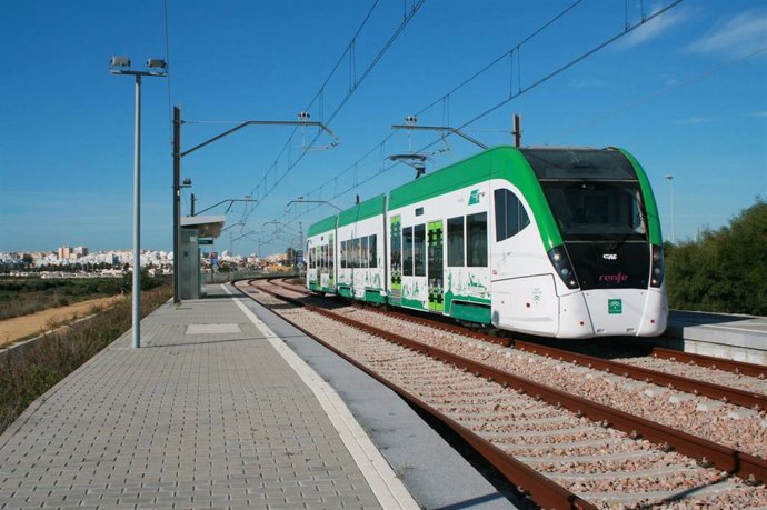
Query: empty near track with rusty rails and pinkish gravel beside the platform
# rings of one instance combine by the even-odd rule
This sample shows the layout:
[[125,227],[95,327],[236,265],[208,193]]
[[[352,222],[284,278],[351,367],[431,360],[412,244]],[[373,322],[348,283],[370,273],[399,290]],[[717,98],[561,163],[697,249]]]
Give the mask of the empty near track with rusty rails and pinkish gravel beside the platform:
[[[286,292],[259,286],[265,292]],[[257,296],[267,306],[276,299]],[[293,301],[301,296],[293,291]],[[475,448],[495,458],[494,463],[506,464],[506,470],[499,468],[501,472],[544,507],[666,504],[677,498],[680,501],[675,504],[683,507],[767,504],[764,487],[756,483],[767,477],[764,459],[488,363],[489,358],[508,358],[506,353],[511,351],[502,347],[464,340],[462,350],[456,353],[455,348],[442,349],[387,331],[380,328],[382,319],[371,320],[366,314],[356,320],[352,317],[362,313],[352,307],[331,312],[307,306],[279,312],[306,332],[321,334],[331,349],[454,426]],[[350,333],[339,321],[355,330]],[[376,328],[370,326],[373,322]],[[474,359],[478,352],[484,361]]]

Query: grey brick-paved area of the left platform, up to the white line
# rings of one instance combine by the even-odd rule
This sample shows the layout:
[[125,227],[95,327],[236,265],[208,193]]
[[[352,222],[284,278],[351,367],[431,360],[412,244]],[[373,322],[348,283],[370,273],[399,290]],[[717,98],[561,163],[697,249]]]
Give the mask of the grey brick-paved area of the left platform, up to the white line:
[[0,436],[0,508],[384,506],[312,391],[210,293],[158,309],[141,349],[123,336]]

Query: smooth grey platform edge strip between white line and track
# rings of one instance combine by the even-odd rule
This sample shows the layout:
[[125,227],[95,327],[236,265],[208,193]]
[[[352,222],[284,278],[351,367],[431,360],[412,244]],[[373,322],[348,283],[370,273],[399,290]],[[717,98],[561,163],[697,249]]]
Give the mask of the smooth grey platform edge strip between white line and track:
[[343,399],[418,504],[428,509],[512,509],[490,484],[394,391],[332,354],[260,304],[248,308]]

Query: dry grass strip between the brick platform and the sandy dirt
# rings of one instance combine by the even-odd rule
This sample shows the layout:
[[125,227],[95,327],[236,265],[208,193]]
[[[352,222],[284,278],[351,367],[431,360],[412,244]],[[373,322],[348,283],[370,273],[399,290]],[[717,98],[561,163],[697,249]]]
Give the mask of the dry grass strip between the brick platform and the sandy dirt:
[[[142,316],[168,300],[172,290],[141,292]],[[47,334],[22,352],[0,358],[0,432],[39,396],[130,329],[128,299],[68,328]]]

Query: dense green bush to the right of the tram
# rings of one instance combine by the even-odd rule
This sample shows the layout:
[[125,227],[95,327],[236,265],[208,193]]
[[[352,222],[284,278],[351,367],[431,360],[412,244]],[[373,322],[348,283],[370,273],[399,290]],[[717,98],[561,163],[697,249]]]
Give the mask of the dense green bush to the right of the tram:
[[667,244],[666,271],[671,308],[767,316],[767,202],[757,197],[729,226]]

